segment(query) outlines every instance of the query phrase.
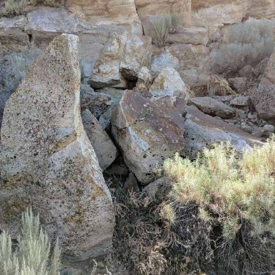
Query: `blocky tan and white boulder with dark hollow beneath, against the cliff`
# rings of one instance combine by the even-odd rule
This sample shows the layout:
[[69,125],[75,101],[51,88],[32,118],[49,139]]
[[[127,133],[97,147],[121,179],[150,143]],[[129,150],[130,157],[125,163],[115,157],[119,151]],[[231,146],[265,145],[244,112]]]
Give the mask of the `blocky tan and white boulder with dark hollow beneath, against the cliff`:
[[122,88],[130,86],[131,83],[128,82],[137,79],[141,67],[150,68],[151,44],[152,39],[146,36],[138,37],[127,31],[121,35],[112,33],[88,83],[94,89],[117,85]]

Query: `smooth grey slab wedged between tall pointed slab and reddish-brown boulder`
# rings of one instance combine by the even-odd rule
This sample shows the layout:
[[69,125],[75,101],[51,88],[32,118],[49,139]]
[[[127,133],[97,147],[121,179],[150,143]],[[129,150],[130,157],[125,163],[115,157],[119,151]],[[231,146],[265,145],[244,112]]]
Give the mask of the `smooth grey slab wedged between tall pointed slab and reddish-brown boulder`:
[[81,113],[81,118],[84,130],[97,155],[99,166],[104,171],[118,156],[116,146],[88,109]]

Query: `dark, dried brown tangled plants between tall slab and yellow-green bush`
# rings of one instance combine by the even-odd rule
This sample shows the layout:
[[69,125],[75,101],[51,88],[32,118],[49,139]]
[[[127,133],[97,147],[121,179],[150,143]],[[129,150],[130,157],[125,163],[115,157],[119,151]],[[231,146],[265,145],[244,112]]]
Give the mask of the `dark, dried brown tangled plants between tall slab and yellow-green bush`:
[[[119,263],[117,267],[124,266],[126,274],[195,274],[200,263],[209,261],[207,256],[212,255],[209,228],[204,227],[200,218],[193,219],[190,226],[189,219],[197,207],[175,207],[167,196],[170,189],[169,184],[162,184],[141,193],[113,190],[116,215],[113,262]],[[186,219],[176,223],[179,216]]]

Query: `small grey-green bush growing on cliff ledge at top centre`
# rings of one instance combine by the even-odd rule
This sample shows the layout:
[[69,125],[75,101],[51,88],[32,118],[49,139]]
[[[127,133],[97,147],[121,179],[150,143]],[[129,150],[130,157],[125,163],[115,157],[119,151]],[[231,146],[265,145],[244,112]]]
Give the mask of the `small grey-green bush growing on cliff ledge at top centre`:
[[178,13],[157,16],[152,22],[153,43],[162,48],[168,41],[169,34],[175,34],[180,26],[181,19]]

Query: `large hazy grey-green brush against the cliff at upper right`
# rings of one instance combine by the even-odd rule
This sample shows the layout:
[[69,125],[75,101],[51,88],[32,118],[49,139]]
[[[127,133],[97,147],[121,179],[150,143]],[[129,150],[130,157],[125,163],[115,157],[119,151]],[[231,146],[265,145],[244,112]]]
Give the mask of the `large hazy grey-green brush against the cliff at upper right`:
[[245,65],[258,64],[273,52],[271,20],[249,19],[235,24],[226,32],[225,43],[212,53],[213,67],[217,73],[238,71]]

